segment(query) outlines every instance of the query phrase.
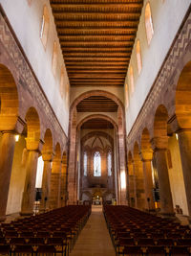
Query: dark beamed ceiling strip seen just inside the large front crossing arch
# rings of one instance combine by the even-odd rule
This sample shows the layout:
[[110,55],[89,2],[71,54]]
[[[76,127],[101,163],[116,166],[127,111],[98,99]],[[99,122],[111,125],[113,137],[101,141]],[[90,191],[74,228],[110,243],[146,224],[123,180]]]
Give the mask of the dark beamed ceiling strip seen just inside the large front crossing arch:
[[117,112],[117,104],[103,96],[92,96],[81,101],[77,106],[77,112]]

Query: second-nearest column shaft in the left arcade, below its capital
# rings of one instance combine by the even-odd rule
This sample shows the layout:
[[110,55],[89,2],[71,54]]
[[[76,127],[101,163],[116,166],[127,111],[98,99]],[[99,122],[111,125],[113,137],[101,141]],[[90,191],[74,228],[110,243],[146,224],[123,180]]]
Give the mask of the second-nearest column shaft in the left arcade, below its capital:
[[26,161],[26,179],[25,187],[23,192],[21,216],[27,216],[33,214],[33,203],[35,199],[35,180],[36,180],[36,169],[38,162],[37,150],[28,150],[27,161]]

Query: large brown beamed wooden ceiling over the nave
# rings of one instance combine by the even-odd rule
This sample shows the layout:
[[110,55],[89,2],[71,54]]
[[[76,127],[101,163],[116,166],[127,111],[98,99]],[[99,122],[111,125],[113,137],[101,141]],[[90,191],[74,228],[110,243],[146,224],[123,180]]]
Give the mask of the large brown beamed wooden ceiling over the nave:
[[71,86],[123,86],[143,0],[50,0]]

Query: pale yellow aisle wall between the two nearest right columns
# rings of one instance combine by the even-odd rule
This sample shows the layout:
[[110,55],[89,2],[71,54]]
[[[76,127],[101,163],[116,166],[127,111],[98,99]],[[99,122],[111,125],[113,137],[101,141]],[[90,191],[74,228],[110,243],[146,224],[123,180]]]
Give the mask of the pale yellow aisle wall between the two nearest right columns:
[[174,208],[176,205],[180,205],[183,215],[188,215],[185,186],[180,161],[179,142],[177,141],[175,134],[169,138],[168,147],[172,158],[172,168],[169,168],[168,172]]

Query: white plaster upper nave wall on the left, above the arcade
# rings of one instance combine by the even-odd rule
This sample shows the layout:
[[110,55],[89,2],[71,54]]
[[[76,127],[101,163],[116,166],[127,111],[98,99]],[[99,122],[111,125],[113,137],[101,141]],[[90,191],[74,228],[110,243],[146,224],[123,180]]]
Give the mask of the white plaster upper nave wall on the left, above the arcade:
[[[68,134],[69,124],[69,101],[66,98],[67,84],[69,84],[64,60],[61,54],[58,37],[53,21],[53,14],[48,0],[29,1],[27,0],[0,0],[11,27],[17,36],[32,69],[45,92],[48,101],[53,107],[53,111],[59,123]],[[47,5],[50,15],[50,28],[46,49],[40,39],[43,7]],[[53,42],[58,45],[57,67],[53,76]],[[61,98],[59,92],[61,67],[64,67],[65,97]]]

